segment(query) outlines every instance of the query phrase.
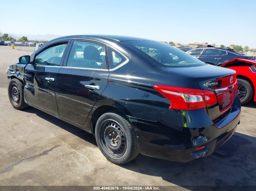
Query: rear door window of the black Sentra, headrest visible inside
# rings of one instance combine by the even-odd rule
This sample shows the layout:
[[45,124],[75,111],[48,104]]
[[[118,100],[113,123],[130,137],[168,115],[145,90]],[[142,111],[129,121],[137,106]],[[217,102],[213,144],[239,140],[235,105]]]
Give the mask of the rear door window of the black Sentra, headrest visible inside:
[[107,69],[105,46],[75,41],[68,56],[67,67]]

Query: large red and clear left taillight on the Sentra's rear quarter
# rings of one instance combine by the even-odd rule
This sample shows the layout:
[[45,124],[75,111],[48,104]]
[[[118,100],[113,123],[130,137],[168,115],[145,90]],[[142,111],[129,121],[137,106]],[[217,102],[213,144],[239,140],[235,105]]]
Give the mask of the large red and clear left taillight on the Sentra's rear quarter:
[[153,87],[171,102],[169,107],[171,109],[196,110],[217,103],[215,94],[209,90],[164,85],[154,85]]

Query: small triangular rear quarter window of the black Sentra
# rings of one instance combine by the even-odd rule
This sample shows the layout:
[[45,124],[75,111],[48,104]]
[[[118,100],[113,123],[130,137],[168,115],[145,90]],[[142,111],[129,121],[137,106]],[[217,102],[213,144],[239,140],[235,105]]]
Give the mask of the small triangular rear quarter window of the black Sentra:
[[111,47],[107,47],[108,50],[108,64],[109,68],[113,69],[118,65],[124,63],[127,59],[118,51],[112,49]]

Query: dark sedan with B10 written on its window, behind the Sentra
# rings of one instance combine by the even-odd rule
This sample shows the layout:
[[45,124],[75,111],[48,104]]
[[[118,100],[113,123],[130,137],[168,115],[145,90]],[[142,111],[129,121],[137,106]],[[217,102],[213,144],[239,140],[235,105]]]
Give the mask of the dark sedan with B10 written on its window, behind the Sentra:
[[194,48],[187,53],[202,62],[218,66],[234,58],[256,59],[255,56],[240,54],[231,48],[219,48],[211,45]]

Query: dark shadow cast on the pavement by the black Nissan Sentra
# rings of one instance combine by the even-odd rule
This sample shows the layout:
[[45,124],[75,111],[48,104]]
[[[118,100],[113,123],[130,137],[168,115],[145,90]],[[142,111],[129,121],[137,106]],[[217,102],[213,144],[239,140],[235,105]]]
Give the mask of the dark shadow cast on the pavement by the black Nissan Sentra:
[[[75,126],[33,107],[23,110],[97,145],[95,138]],[[239,126],[238,126],[239,128]],[[256,186],[256,138],[238,132],[212,155],[191,163],[179,163],[138,155],[120,167],[136,173],[161,177],[178,186]],[[159,185],[159,183],[152,183]]]

